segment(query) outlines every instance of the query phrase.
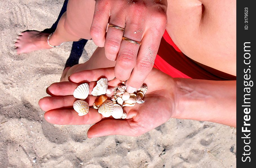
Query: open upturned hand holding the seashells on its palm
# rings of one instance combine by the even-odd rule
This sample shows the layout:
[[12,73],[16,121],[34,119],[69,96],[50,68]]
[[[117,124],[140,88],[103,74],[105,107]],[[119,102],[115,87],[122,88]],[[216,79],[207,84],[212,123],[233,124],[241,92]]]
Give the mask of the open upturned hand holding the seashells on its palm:
[[[70,76],[72,82],[58,82],[50,85],[46,92],[51,96],[39,100],[40,108],[46,111],[44,114],[46,121],[60,125],[96,123],[88,130],[89,138],[115,134],[139,136],[163,124],[173,115],[175,81],[161,71],[153,69],[145,80],[148,86],[144,97],[145,102],[136,104],[134,107],[125,107],[124,111],[127,113],[125,120],[104,118],[94,108],[90,108],[88,114],[78,116],[73,109],[76,99],[72,94],[75,88],[79,83],[92,81],[88,83],[91,92],[96,85],[95,81],[103,76],[112,80],[115,77],[114,68],[81,71]],[[115,78],[109,81],[109,86],[117,86],[119,83],[120,81]],[[92,106],[95,98],[89,95],[85,101]]]

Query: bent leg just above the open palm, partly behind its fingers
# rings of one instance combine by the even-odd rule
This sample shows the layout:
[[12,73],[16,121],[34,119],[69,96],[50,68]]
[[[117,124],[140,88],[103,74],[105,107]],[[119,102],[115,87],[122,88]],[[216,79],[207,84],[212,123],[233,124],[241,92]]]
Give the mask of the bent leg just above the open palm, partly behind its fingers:
[[115,61],[111,61],[105,56],[105,49],[98,47],[92,54],[92,57],[83,64],[77,64],[70,68],[66,68],[61,76],[60,81],[68,81],[68,76],[73,73],[80,72],[87,69],[105,68],[115,66]]

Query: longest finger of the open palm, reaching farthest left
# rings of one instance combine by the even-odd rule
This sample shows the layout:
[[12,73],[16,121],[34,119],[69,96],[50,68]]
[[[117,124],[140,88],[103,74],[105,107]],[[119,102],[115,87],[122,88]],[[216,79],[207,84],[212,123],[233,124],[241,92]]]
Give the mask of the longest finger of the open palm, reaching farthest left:
[[[89,106],[93,106],[95,99],[96,99],[95,96],[88,95],[88,97],[84,101],[86,101],[89,104]],[[43,111],[49,111],[52,109],[60,109],[60,108],[72,109],[73,103],[76,100],[77,99],[73,95],[63,96],[63,97],[47,96],[40,99],[38,104]]]

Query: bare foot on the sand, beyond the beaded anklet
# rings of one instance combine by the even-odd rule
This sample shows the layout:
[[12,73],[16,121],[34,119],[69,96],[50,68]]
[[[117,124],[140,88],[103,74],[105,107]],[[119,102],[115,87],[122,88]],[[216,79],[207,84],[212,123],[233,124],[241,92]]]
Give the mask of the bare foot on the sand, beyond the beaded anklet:
[[48,36],[49,34],[39,31],[22,32],[14,44],[17,54],[52,48],[47,43]]

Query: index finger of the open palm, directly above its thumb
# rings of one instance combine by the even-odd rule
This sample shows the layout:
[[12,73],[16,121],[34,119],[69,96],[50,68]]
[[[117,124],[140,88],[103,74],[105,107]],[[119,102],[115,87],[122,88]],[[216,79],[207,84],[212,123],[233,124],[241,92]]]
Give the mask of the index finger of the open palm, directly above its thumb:
[[47,122],[59,125],[82,125],[97,123],[102,119],[102,115],[94,108],[89,108],[89,112],[84,116],[77,115],[74,109],[55,109],[44,113]]

